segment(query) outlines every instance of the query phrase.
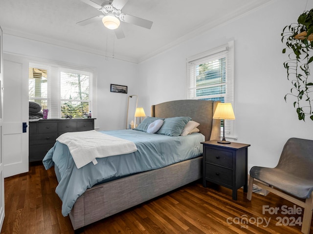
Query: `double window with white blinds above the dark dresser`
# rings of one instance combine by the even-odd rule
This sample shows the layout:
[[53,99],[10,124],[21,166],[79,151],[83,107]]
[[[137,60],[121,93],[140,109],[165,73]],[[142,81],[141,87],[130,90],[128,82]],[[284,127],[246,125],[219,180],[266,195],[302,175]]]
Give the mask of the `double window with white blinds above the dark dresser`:
[[92,109],[92,73],[30,64],[29,100],[48,109],[49,118],[84,117]]

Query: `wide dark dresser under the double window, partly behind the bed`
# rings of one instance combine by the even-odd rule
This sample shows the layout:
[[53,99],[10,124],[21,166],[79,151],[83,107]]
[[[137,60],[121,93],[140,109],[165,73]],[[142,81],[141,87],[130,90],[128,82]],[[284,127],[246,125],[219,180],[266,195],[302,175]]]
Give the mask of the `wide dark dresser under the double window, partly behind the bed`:
[[63,133],[94,129],[94,118],[40,119],[29,122],[29,162],[41,161]]

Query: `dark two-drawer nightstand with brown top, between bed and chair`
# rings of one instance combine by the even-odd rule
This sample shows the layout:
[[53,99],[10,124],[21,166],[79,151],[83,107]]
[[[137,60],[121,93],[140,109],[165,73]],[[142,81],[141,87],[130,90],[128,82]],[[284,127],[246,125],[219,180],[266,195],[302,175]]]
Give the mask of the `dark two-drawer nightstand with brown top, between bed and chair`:
[[237,190],[244,186],[247,192],[248,144],[231,142],[221,144],[217,140],[201,142],[203,144],[203,187],[210,181],[232,189],[232,198],[237,200]]

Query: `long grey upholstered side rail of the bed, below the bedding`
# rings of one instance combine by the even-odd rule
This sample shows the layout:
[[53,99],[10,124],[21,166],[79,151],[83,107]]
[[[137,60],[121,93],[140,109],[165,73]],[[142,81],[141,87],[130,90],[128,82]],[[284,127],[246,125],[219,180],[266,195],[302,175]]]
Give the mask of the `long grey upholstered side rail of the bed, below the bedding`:
[[[96,185],[69,213],[74,230],[114,215],[202,177],[202,156]],[[150,181],[147,183],[147,181]]]

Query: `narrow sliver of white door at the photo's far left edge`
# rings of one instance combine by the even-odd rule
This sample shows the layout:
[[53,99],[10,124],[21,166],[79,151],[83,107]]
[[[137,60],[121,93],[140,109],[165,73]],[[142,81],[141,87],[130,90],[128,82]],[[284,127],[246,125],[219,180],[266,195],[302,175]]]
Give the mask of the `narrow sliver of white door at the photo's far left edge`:
[[3,159],[2,159],[2,116],[3,116],[3,64],[2,64],[2,29],[0,27],[0,230],[4,220],[4,175],[3,175]]

